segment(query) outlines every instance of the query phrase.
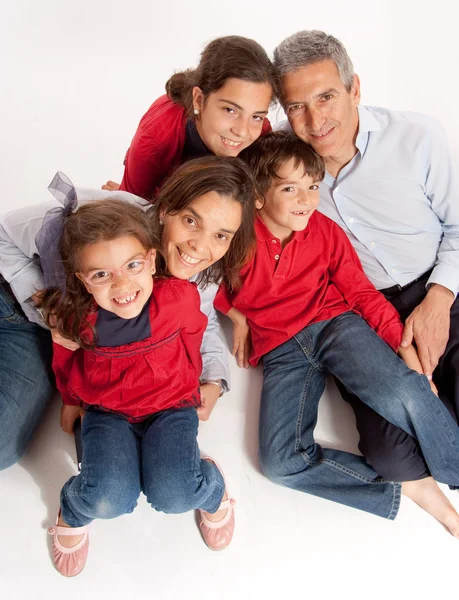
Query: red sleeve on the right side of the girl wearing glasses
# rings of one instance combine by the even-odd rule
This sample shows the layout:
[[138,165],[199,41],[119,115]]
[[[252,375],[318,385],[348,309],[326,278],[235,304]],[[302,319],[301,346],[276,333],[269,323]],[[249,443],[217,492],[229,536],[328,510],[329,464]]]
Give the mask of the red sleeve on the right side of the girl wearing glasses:
[[201,299],[196,284],[184,280],[176,280],[173,283],[182,316],[182,340],[199,377],[202,372],[201,344],[207,327],[207,317],[201,312]]

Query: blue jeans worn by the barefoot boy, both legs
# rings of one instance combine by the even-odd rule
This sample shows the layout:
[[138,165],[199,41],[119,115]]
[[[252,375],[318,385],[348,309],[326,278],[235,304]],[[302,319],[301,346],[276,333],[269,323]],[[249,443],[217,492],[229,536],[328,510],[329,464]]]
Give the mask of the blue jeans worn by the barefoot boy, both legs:
[[362,457],[314,441],[327,373],[415,437],[433,477],[459,483],[459,428],[427,378],[408,369],[358,315],[305,327],[263,358],[260,462],[276,483],[394,519],[400,485]]

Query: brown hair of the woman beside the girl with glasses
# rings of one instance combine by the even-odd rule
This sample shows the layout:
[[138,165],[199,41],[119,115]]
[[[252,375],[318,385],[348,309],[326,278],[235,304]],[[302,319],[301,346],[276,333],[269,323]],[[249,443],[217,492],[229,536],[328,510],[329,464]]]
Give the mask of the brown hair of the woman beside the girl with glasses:
[[[255,246],[255,201],[260,195],[257,183],[239,158],[206,156],[181,165],[165,182],[154,206],[149,209],[153,228],[160,214],[176,215],[193,200],[209,192],[231,198],[242,207],[242,224],[231,240],[226,254],[203,271],[198,279],[202,285],[224,281],[231,289],[239,284],[239,271]],[[159,257],[158,273],[167,274],[167,265]]]

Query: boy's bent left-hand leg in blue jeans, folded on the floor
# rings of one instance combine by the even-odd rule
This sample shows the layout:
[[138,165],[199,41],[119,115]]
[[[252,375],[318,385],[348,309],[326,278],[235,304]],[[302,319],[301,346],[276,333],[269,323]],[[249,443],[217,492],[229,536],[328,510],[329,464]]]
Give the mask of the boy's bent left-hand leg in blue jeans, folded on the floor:
[[379,478],[361,457],[314,441],[326,377],[314,349],[323,328],[311,325],[263,358],[261,468],[275,483],[394,519],[399,485]]

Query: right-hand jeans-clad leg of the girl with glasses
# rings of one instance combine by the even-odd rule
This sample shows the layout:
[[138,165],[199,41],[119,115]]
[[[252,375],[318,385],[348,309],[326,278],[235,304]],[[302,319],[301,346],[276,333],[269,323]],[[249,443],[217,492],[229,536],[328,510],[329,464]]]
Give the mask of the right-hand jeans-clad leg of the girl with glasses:
[[213,462],[201,460],[194,408],[154,415],[142,440],[143,490],[156,510],[215,512],[223,498],[223,477]]

